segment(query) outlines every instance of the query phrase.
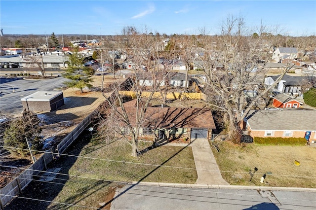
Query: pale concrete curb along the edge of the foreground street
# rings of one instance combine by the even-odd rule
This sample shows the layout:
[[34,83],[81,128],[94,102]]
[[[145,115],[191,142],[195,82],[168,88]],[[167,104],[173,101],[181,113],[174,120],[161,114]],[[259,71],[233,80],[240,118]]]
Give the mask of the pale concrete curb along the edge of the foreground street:
[[138,182],[138,181],[133,181],[132,184],[145,185],[145,186],[159,186],[159,187],[316,192],[316,188],[303,188],[303,187],[268,187],[268,186],[242,186],[242,185],[217,185],[217,184],[181,184],[181,183]]

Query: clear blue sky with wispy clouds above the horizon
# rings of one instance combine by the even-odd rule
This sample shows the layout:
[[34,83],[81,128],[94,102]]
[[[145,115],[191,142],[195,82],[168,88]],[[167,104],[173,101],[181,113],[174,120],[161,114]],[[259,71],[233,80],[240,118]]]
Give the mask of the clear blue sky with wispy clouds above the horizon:
[[3,34],[120,35],[134,26],[156,34],[218,34],[228,15],[256,31],[316,35],[316,0],[1,0]]

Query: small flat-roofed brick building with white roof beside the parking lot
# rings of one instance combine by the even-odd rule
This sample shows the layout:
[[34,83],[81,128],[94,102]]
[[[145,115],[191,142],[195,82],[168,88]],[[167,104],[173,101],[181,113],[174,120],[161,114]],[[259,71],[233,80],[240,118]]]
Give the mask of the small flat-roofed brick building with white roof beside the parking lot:
[[54,111],[65,104],[63,92],[60,91],[38,91],[21,101],[23,109],[34,112]]

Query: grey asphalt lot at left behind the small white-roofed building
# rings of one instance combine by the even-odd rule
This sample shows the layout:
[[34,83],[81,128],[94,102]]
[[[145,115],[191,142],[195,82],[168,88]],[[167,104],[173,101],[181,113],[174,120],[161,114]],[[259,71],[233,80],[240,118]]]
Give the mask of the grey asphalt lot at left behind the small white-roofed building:
[[65,87],[66,79],[59,76],[53,79],[24,80],[22,77],[0,77],[0,115],[9,116],[23,111],[21,98],[37,91],[53,91]]

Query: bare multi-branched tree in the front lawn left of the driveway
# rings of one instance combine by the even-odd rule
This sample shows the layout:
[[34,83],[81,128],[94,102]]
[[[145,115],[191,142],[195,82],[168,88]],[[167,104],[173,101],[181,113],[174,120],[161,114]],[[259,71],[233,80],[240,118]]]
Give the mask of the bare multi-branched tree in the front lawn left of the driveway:
[[[131,155],[138,157],[138,142],[140,130],[146,126],[144,124],[145,114],[150,105],[150,101],[160,84],[164,81],[162,77],[157,77],[158,50],[153,45],[154,37],[146,33],[139,33],[134,27],[123,29],[124,44],[127,43],[126,56],[133,62],[133,73],[124,81],[115,82],[112,85],[111,97],[106,96],[106,106],[109,107],[107,119],[112,120],[111,125],[114,131],[122,135],[132,147]],[[153,65],[154,64],[154,65]],[[143,69],[146,67],[146,69]],[[151,85],[145,85],[145,80],[150,80]],[[142,81],[142,82],[141,82]],[[103,87],[102,87],[103,89]],[[124,105],[124,97],[120,95],[120,90],[132,90],[135,99],[133,117],[129,115],[128,108]],[[144,96],[147,91],[146,96]],[[112,116],[112,117],[111,117]]]

